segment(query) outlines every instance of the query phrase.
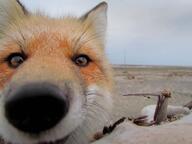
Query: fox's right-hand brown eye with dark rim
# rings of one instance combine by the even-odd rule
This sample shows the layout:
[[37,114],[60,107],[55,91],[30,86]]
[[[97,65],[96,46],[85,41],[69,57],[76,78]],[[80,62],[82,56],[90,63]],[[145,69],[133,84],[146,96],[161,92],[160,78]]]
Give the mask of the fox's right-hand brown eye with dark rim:
[[89,64],[91,61],[90,58],[87,55],[78,55],[73,59],[74,63],[77,66],[85,67]]

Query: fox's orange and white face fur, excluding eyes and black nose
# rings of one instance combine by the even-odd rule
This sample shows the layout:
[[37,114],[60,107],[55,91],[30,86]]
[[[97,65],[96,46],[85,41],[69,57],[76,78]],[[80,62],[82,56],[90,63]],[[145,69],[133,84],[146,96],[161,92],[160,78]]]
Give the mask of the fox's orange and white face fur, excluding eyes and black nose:
[[[56,19],[28,14],[15,0],[0,0],[0,11],[7,1],[3,6],[9,13],[0,14],[0,90],[5,93],[2,97],[6,101],[6,89],[14,91],[26,84],[45,82],[69,96],[70,108],[59,122],[62,126],[56,125],[39,137],[23,135],[0,118],[2,137],[11,143],[32,144],[70,135],[68,143],[87,144],[112,111],[112,74],[104,54],[107,4],[99,4],[80,18]],[[6,61],[13,53],[25,56],[18,67],[11,67]],[[91,61],[78,65],[74,58],[80,55]],[[4,117],[4,112],[0,111],[1,115]]]

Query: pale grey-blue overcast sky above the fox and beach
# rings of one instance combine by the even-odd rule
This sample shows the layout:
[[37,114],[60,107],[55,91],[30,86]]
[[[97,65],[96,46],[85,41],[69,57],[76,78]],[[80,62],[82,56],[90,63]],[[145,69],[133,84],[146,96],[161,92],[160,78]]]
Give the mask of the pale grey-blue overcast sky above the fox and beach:
[[[101,0],[21,0],[31,11],[80,16]],[[108,0],[113,64],[192,66],[192,0]]]

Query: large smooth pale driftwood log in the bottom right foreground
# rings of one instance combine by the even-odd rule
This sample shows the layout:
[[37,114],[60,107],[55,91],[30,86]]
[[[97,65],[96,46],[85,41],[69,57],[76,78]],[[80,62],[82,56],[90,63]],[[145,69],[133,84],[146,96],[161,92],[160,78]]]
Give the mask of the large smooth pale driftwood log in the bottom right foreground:
[[92,144],[192,144],[192,114],[186,117],[177,122],[153,127],[124,122],[110,135]]

